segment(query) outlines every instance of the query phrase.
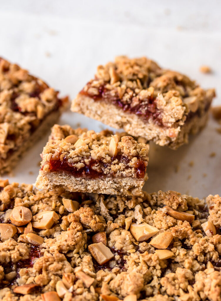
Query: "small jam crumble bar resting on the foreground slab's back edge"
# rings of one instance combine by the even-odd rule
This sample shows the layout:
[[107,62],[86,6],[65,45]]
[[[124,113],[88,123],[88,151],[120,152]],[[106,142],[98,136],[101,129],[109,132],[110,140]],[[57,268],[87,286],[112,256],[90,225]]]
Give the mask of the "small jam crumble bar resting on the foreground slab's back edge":
[[147,179],[149,145],[125,133],[54,125],[41,154],[36,187],[140,195]]

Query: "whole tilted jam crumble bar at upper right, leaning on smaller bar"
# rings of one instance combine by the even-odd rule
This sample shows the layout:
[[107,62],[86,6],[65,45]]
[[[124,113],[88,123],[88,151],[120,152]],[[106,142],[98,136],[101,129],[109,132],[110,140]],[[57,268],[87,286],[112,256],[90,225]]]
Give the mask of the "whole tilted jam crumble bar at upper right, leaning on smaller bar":
[[98,66],[71,110],[176,149],[206,124],[214,96],[214,89],[204,90],[146,57],[120,56]]

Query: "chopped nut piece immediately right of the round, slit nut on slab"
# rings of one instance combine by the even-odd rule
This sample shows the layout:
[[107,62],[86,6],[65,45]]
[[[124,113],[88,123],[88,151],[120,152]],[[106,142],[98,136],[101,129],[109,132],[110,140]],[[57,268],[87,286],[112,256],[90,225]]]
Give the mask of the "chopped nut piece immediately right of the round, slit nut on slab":
[[59,216],[54,211],[42,211],[33,216],[32,226],[37,229],[50,229]]

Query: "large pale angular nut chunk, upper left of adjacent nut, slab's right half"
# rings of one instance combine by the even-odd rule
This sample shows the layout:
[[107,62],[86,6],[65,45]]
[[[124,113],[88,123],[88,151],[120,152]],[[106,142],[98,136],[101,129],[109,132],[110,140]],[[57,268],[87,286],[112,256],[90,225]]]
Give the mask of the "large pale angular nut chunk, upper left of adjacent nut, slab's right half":
[[151,236],[157,234],[159,230],[147,223],[143,222],[142,224],[132,223],[130,226],[130,233],[135,238],[136,241],[145,241],[148,240]]

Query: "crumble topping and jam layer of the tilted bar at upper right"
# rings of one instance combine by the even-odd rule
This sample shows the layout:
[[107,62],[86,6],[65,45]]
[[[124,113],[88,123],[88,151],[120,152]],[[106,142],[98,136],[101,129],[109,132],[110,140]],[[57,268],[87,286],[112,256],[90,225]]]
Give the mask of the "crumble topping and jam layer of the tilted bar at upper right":
[[124,111],[150,117],[160,126],[182,126],[192,115],[208,110],[214,89],[204,90],[187,76],[162,69],[146,57],[116,57],[100,65],[80,92],[115,104]]

